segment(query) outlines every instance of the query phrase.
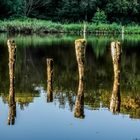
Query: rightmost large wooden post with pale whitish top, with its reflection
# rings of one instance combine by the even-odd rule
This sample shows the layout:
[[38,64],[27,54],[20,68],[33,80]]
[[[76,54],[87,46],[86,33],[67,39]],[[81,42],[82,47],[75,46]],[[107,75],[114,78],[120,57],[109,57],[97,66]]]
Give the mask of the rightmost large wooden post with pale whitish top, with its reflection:
[[112,42],[111,43],[111,56],[113,61],[114,69],[114,84],[112,90],[112,96],[110,101],[111,112],[120,111],[120,74],[121,74],[121,43]]

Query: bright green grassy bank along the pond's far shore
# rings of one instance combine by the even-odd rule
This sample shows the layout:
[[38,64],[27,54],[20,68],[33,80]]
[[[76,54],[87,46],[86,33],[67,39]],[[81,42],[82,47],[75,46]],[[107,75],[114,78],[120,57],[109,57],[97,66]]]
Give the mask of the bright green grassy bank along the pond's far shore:
[[[113,24],[87,23],[87,32],[94,34],[121,34],[122,26]],[[37,19],[15,19],[0,21],[0,32],[10,33],[76,33],[83,32],[83,23],[54,23]],[[125,34],[140,34],[140,26],[125,26]]]

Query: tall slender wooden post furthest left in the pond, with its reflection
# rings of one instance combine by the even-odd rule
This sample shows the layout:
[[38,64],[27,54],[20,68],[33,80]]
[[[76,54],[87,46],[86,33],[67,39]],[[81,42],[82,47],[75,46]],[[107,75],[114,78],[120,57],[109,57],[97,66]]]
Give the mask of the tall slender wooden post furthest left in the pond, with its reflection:
[[15,91],[14,91],[14,71],[15,71],[15,52],[16,52],[16,45],[15,41],[9,39],[7,41],[8,45],[8,52],[9,52],[9,114],[8,114],[8,124],[15,123],[16,117],[16,102],[15,102]]

